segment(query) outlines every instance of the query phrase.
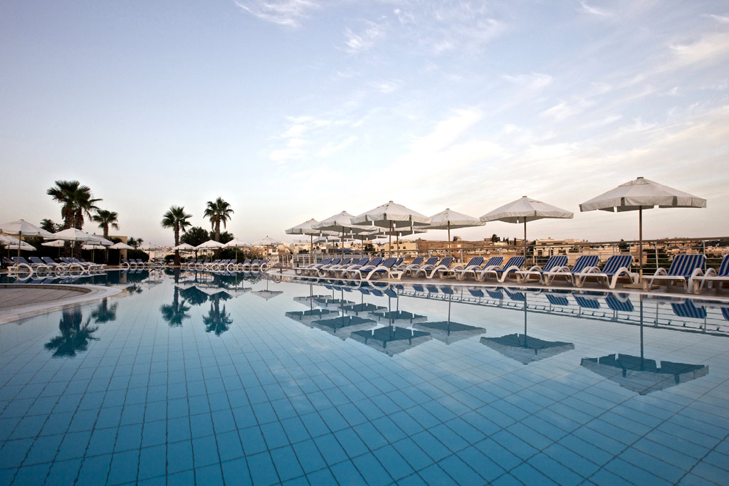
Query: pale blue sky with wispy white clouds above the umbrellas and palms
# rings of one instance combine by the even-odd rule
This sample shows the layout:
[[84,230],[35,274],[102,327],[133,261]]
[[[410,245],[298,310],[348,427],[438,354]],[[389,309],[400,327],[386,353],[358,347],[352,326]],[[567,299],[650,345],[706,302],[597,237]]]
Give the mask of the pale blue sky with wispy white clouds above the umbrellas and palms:
[[216,197],[250,242],[523,195],[575,213],[530,239],[633,240],[636,213],[578,205],[643,176],[708,201],[644,213],[644,238],[729,227],[727,2],[3,1],[0,66],[0,222],[60,222],[45,192],[78,180],[160,245],[171,205],[209,227]]

